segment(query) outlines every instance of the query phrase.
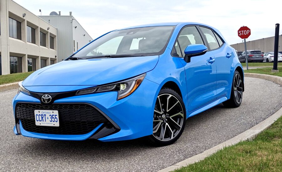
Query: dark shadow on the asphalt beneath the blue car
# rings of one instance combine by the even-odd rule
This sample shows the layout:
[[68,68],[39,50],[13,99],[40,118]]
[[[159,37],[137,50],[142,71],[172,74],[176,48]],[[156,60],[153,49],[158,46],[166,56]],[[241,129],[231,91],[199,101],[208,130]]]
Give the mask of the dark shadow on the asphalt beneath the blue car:
[[[212,115],[212,111],[222,109],[222,105],[218,105],[212,109],[209,109],[203,113],[192,116],[186,121],[186,126],[183,138],[180,137],[179,141],[175,144],[169,145],[169,147],[177,146],[178,142],[182,142],[181,139],[189,135],[191,128],[197,128],[197,125],[201,122],[206,122]],[[212,114],[212,115],[210,115]],[[114,160],[117,157],[132,156],[133,154],[142,154],[149,150],[161,150],[161,147],[154,147],[148,143],[145,138],[126,140],[126,141],[115,141],[115,142],[101,142],[95,139],[87,139],[83,141],[63,141],[63,140],[48,140],[48,139],[35,139],[35,138],[24,138],[24,145],[21,144],[17,148],[19,154],[32,156],[33,158],[44,158],[45,156],[54,156],[55,158],[73,157],[76,159],[80,157],[83,159],[107,159]],[[27,144],[28,143],[28,144]],[[179,143],[180,144],[180,143]],[[101,153],[103,152],[103,153]],[[109,154],[105,154],[109,152]]]

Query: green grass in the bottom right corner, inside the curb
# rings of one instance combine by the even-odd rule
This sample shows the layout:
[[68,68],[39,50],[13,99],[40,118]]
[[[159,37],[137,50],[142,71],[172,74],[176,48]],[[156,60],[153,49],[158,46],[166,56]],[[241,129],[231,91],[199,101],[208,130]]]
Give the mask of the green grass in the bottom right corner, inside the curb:
[[282,117],[253,141],[243,141],[175,172],[282,171]]

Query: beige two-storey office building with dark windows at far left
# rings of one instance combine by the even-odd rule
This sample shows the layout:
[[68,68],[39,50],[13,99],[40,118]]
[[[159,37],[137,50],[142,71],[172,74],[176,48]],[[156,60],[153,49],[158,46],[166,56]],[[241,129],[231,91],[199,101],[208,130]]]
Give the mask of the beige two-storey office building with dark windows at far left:
[[57,63],[57,29],[12,0],[0,0],[0,75]]

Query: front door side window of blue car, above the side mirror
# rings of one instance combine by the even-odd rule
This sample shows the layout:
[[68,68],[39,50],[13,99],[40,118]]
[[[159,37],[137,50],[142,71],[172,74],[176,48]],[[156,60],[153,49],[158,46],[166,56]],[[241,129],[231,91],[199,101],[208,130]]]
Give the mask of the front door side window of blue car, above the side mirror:
[[184,57],[186,47],[191,44],[204,44],[196,26],[188,26],[182,29],[174,46],[176,52],[174,55]]

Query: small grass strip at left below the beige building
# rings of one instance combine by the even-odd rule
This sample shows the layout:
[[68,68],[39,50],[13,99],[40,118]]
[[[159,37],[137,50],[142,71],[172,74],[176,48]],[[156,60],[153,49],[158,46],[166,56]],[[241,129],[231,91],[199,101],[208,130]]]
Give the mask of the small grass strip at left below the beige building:
[[18,81],[24,80],[33,72],[26,72],[26,73],[13,73],[8,75],[0,75],[0,85],[6,83],[14,83]]

